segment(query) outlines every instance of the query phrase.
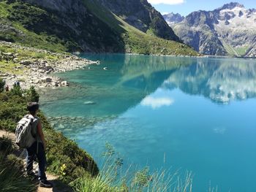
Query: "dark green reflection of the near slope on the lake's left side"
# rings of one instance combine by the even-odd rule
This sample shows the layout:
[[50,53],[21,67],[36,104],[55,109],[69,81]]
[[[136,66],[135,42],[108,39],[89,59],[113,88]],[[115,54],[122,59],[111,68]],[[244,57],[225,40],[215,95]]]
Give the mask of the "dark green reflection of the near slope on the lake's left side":
[[181,65],[191,63],[187,58],[118,54],[93,55],[91,59],[102,64],[57,74],[71,82],[69,88],[42,90],[48,115],[54,116],[56,111],[59,116],[120,115],[156,91]]

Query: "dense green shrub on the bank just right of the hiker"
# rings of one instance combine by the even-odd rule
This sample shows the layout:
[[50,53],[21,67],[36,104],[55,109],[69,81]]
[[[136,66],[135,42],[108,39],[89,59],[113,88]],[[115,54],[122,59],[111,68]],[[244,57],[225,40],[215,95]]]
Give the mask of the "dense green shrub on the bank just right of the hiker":
[[86,172],[92,176],[98,174],[99,169],[91,156],[72,140],[51,129],[45,130],[45,139],[48,170],[58,174],[62,180],[69,183]]

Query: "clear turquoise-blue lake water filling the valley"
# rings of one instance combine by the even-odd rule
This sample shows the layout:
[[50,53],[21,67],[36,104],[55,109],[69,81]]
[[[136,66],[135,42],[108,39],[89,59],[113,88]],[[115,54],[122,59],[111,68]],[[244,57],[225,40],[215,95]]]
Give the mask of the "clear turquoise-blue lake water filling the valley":
[[57,74],[70,87],[41,104],[99,164],[109,142],[124,162],[192,171],[193,191],[256,190],[256,60],[83,56],[101,64]]

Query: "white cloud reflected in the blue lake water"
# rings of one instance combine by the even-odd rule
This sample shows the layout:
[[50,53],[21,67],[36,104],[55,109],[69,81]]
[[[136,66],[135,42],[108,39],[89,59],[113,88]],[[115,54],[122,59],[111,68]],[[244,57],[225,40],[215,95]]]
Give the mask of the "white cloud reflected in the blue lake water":
[[141,101],[141,105],[157,109],[163,106],[170,106],[171,104],[173,104],[173,102],[173,99],[170,99],[168,97],[154,98],[152,96],[147,96]]

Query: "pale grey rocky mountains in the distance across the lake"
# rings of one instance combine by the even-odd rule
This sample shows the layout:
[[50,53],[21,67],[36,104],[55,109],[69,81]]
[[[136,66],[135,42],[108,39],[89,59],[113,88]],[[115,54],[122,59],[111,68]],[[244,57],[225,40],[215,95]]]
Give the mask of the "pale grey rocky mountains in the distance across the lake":
[[206,55],[256,56],[256,10],[238,3],[197,11],[170,23],[185,43]]

